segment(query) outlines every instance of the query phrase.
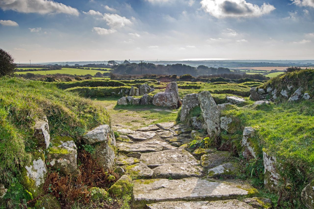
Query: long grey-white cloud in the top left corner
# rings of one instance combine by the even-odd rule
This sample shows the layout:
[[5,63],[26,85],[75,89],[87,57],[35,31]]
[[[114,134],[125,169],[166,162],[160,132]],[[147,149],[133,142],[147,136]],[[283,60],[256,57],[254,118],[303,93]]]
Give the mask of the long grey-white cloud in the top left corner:
[[0,8],[21,13],[65,13],[78,16],[76,8],[50,0],[0,0]]

